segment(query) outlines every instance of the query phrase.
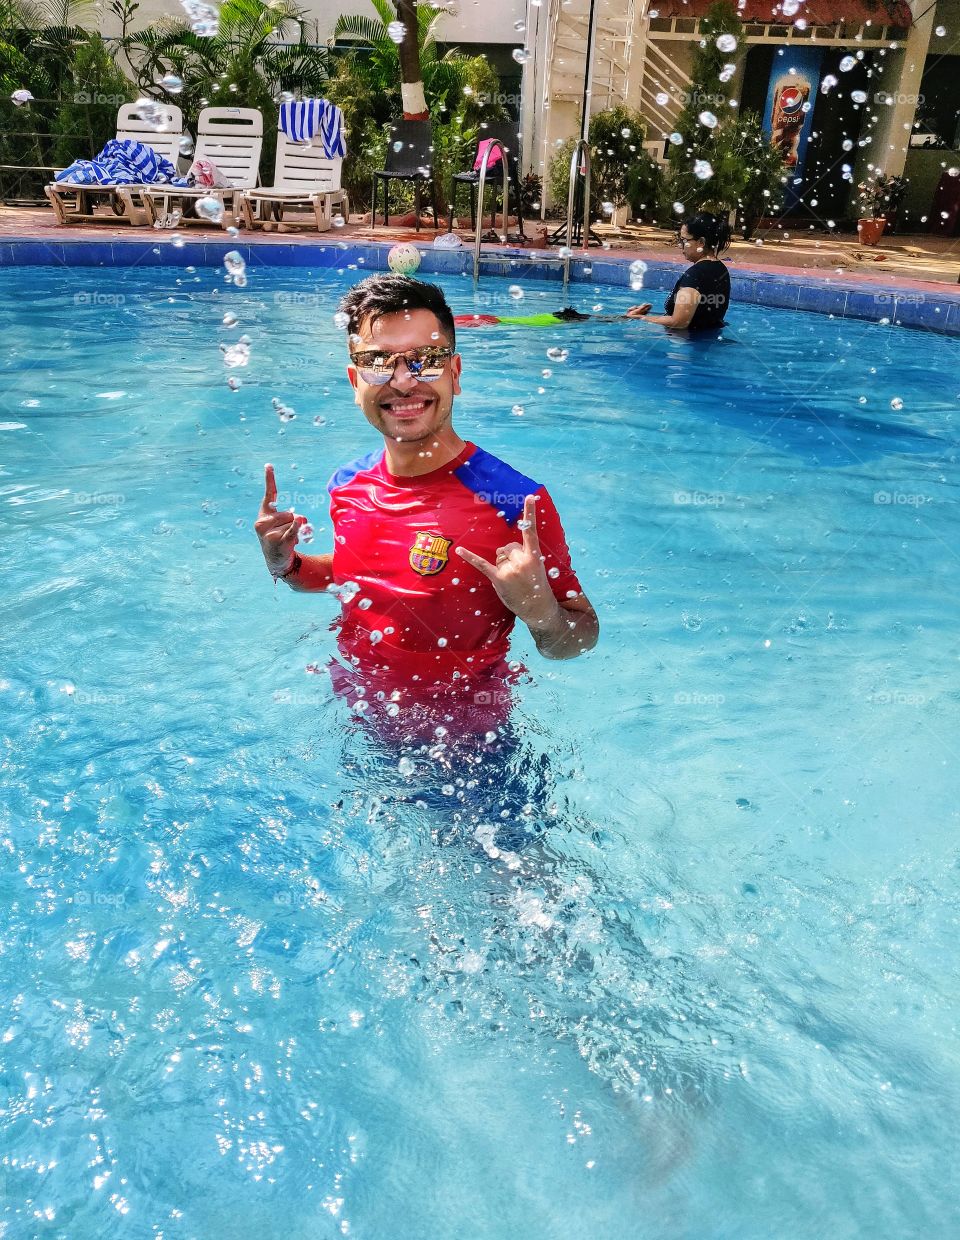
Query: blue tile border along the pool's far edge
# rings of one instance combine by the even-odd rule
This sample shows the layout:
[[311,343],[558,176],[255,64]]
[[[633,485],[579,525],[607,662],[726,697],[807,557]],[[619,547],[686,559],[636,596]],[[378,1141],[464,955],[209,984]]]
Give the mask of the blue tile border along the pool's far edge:
[[[180,234],[182,236],[182,234]],[[363,272],[384,270],[393,241],[318,242],[254,242],[224,237],[182,238],[172,243],[170,233],[130,241],[89,238],[43,241],[36,237],[9,237],[0,243],[0,268],[5,267],[216,267],[227,250],[237,249],[252,268],[309,267],[316,269],[344,268]],[[420,272],[425,275],[471,275],[473,249],[434,249],[418,246],[422,254]],[[645,259],[644,291],[664,291],[673,286],[678,263]],[[630,258],[618,258],[610,252],[590,253],[571,263],[572,284],[600,284],[613,288],[630,286]],[[533,278],[549,283],[562,279],[562,265],[556,250],[486,249],[481,265],[482,277],[499,279]],[[960,336],[960,289],[954,293],[945,285],[938,289],[912,289],[896,284],[863,284],[837,277],[820,278],[807,272],[771,273],[731,267],[731,289],[734,301],[807,310],[847,319],[873,322],[889,320],[902,327]]]

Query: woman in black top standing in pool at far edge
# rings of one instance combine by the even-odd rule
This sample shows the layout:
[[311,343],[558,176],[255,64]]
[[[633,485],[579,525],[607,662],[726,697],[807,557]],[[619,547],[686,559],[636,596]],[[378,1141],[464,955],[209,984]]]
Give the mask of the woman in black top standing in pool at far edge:
[[677,244],[690,267],[673,285],[662,314],[650,314],[650,303],[630,306],[628,319],[657,322],[662,327],[719,327],[731,300],[731,273],[718,255],[731,243],[726,216],[701,211],[685,221]]

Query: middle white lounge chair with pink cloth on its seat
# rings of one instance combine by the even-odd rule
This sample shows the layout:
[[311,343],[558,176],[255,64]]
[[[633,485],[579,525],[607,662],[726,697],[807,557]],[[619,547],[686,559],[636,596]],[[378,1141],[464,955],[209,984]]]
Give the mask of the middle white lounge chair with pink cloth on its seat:
[[[223,203],[221,227],[234,223],[234,203],[239,190],[252,190],[259,180],[263,150],[263,114],[256,108],[205,108],[197,122],[193,159],[206,159],[231,182],[226,188],[195,186],[184,190],[170,185],[143,186],[143,198],[151,223],[166,223],[170,201],[220,198]],[[181,219],[181,223],[206,223],[208,219]]]

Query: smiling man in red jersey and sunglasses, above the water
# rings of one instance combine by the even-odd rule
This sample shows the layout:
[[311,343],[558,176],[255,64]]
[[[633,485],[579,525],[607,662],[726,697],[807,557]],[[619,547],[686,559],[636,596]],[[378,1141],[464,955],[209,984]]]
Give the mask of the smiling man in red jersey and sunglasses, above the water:
[[396,692],[443,684],[482,701],[478,686],[509,680],[517,619],[547,658],[590,650],[599,624],[547,490],[454,429],[461,360],[443,293],[375,275],[341,310],[355,401],[383,448],[330,480],[335,542],[322,556],[296,551],[305,517],[277,511],[265,467],[254,528],[274,579],[335,589],[349,670]]

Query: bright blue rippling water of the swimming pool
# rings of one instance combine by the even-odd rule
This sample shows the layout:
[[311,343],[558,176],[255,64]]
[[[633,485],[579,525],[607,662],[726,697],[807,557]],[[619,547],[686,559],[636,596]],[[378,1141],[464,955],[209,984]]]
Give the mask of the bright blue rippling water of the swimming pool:
[[334,600],[252,532],[272,460],[325,546],[373,446],[360,273],[222,274],[0,272],[10,1234],[948,1234],[960,343],[461,334],[459,429],[547,482],[603,622],[515,639],[517,884],[305,672]]

